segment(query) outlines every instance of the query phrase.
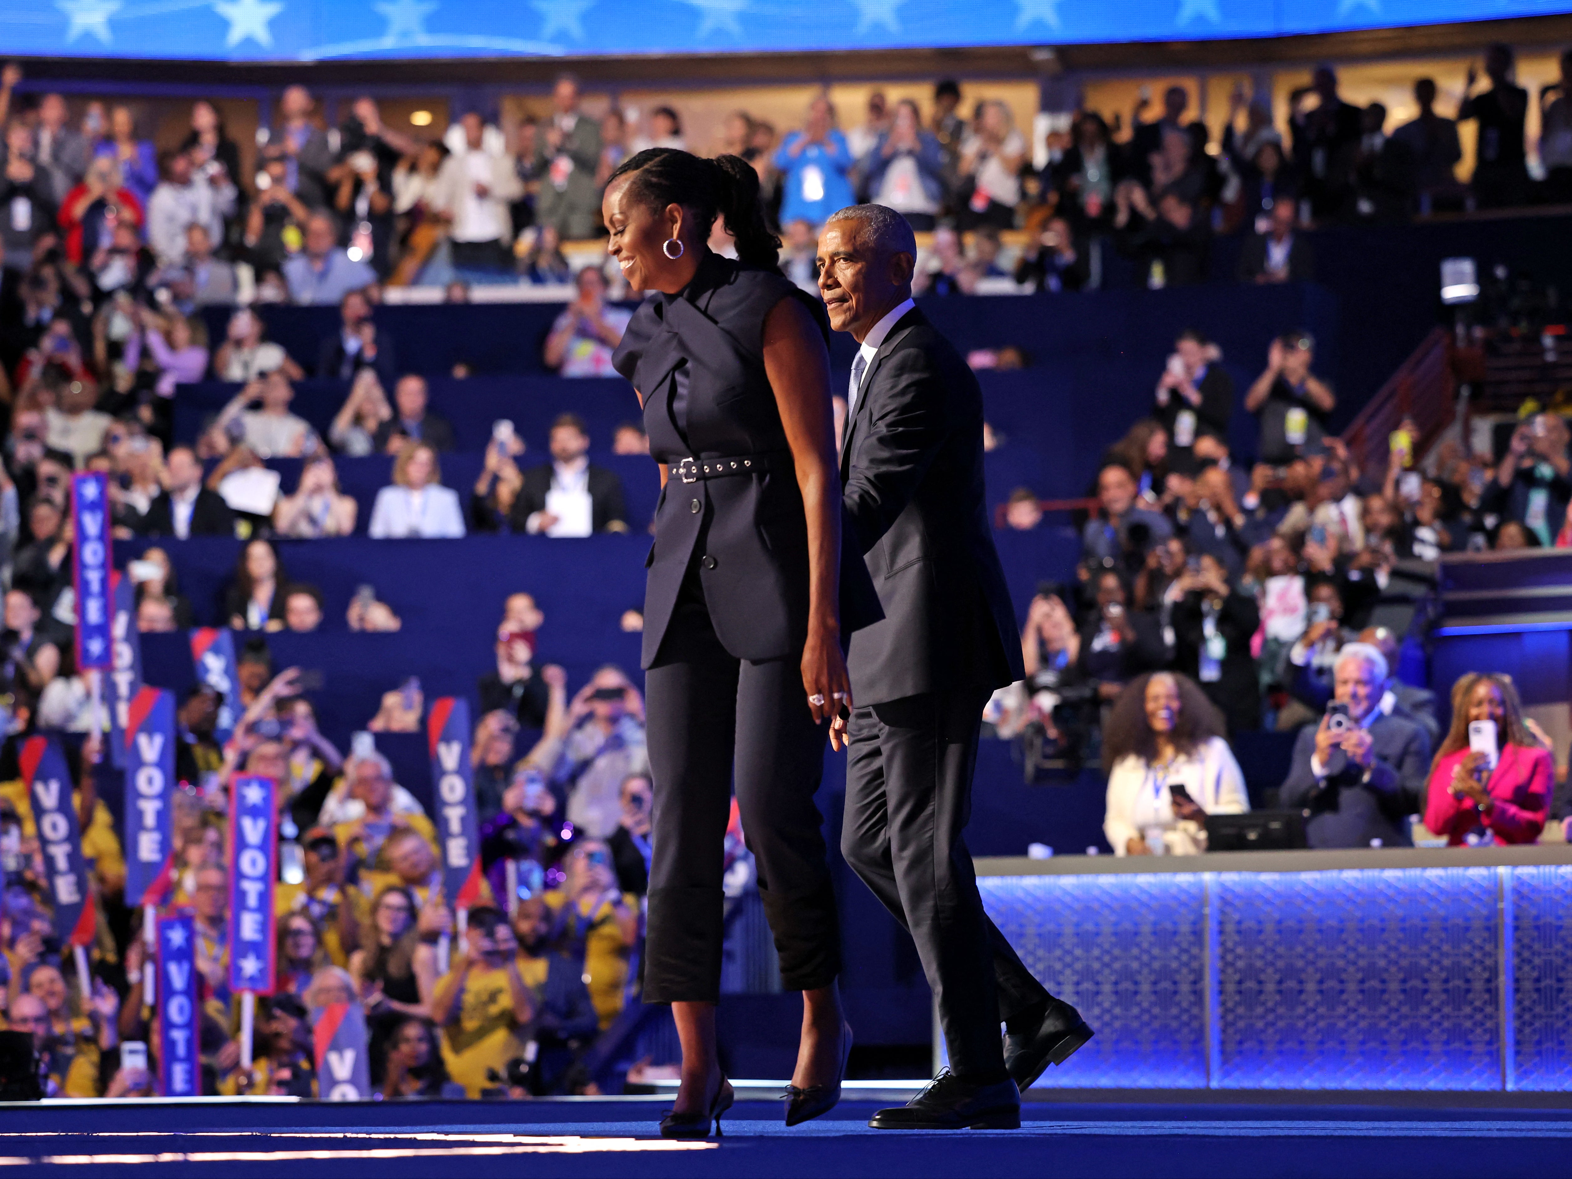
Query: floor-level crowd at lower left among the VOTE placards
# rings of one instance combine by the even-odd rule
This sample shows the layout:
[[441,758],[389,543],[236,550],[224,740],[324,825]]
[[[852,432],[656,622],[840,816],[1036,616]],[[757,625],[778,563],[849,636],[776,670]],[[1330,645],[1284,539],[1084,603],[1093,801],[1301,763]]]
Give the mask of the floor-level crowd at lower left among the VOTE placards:
[[[308,1012],[340,1001],[363,1005],[384,1097],[596,1091],[585,1053],[638,989],[651,855],[643,700],[615,667],[569,696],[560,667],[533,665],[544,623],[530,594],[509,596],[497,670],[476,685],[484,882],[462,927],[443,891],[432,813],[374,747],[376,733],[420,728],[418,685],[390,693],[412,698],[387,701],[347,756],[318,728],[300,670],[274,674],[264,643],[239,654],[241,715],[225,744],[215,737],[219,693],[195,687],[179,701],[165,907],[195,918],[204,1093],[319,1096]],[[104,747],[88,736],[68,753],[97,921],[83,998],[50,923],[42,844],[17,769],[19,742],[42,726],[19,707],[0,751],[9,766],[0,767],[5,1019],[33,1033],[50,1096],[148,1096],[152,1078],[118,1056],[123,1041],[156,1039],[156,1016],[141,994],[143,913],[123,901],[126,858],[94,791]],[[522,748],[520,731],[538,740]],[[250,1067],[228,984],[225,827],[236,773],[270,777],[280,791],[278,981],[259,1000]],[[728,858],[748,861],[740,833]]]

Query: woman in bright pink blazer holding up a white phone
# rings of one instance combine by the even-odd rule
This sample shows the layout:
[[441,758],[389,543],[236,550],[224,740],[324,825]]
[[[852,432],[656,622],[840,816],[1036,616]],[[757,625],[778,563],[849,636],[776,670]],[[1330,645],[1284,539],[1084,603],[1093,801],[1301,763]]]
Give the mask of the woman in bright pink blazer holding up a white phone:
[[[1500,759],[1490,770],[1468,748],[1468,722],[1493,720]],[[1453,689],[1453,728],[1431,766],[1424,825],[1453,846],[1534,843],[1555,788],[1555,759],[1523,722],[1511,676],[1475,673]],[[1470,838],[1471,836],[1471,838]]]

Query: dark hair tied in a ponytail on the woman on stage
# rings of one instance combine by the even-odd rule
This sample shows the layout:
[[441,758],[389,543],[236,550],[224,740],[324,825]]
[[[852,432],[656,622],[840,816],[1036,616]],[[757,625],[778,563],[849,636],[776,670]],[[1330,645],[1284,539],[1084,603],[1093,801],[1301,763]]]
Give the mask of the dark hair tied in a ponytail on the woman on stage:
[[630,195],[652,209],[681,204],[706,237],[715,219],[723,217],[726,233],[737,242],[737,258],[747,266],[769,270],[780,266],[781,239],[764,220],[759,176],[740,156],[707,160],[676,148],[649,148],[623,160],[612,181],[618,176],[629,176]]

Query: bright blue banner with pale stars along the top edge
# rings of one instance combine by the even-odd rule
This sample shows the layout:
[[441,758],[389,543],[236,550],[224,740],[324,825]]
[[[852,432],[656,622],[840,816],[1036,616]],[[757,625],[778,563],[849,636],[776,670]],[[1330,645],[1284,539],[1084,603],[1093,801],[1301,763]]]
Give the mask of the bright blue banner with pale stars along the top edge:
[[1552,0],[0,0],[6,53],[329,58],[1206,41],[1500,20]]

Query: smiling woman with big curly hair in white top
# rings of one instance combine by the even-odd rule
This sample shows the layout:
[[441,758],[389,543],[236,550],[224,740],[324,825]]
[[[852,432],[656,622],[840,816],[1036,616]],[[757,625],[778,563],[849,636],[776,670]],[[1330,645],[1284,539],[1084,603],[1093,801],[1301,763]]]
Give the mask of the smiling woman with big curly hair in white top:
[[1154,671],[1130,682],[1104,722],[1102,764],[1102,830],[1115,855],[1204,852],[1207,814],[1250,810],[1223,717],[1188,676]]

